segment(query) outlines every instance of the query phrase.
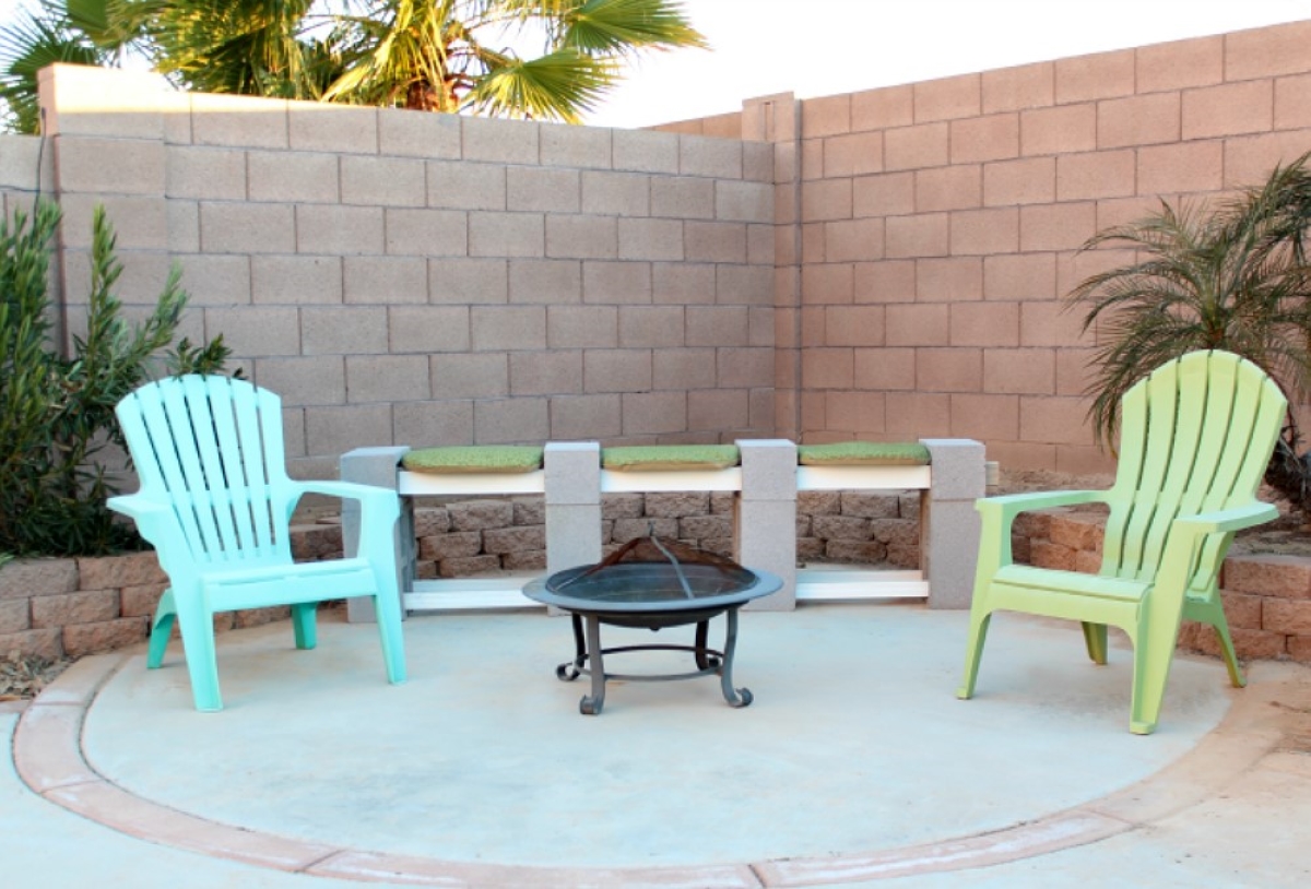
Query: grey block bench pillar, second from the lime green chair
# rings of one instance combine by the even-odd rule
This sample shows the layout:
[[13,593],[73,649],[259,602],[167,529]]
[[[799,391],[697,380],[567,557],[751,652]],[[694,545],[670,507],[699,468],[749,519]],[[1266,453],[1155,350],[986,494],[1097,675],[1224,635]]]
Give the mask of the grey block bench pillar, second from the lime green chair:
[[797,446],[783,438],[743,439],[742,493],[733,502],[733,556],[783,578],[783,589],[749,603],[760,611],[797,604]]

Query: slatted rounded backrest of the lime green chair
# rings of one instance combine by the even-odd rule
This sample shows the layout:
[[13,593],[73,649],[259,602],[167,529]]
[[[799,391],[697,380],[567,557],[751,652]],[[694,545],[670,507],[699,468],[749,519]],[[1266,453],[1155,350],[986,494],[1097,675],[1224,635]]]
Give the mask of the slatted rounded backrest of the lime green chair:
[[[1190,353],[1134,385],[1122,401],[1103,573],[1151,580],[1176,518],[1252,502],[1285,409],[1264,371],[1223,351]],[[1194,553],[1196,593],[1214,593],[1228,543]]]

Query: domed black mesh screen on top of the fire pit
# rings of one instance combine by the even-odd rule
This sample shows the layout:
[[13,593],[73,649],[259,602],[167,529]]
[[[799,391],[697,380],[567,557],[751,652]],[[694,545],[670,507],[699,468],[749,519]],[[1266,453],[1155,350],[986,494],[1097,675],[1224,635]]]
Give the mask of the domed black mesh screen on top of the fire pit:
[[695,599],[742,590],[755,581],[754,572],[726,556],[648,535],[629,540],[595,565],[552,577],[547,589],[570,594],[576,590],[569,587],[577,585],[591,587],[595,595],[598,589],[611,583],[621,587],[636,583],[645,586],[648,594],[661,586]]

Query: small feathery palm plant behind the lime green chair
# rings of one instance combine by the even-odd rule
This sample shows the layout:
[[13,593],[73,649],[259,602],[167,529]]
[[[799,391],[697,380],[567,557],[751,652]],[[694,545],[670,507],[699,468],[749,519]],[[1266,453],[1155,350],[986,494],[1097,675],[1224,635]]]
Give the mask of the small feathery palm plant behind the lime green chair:
[[[1162,202],[1158,212],[1099,232],[1083,249],[1130,248],[1130,265],[1075,287],[1096,375],[1088,410],[1097,443],[1112,446],[1125,392],[1154,368],[1197,349],[1224,349],[1265,370],[1290,403],[1311,393],[1311,153],[1276,167],[1261,186],[1210,210]],[[1293,412],[1266,481],[1311,514],[1311,473],[1299,458]]]

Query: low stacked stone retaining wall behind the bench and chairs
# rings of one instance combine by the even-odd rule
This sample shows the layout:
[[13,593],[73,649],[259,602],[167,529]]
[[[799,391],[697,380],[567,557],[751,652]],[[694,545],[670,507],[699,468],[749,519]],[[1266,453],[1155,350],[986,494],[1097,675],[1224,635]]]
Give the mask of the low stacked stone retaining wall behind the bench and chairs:
[[[654,528],[728,553],[732,496],[709,493],[607,494],[606,551]],[[915,494],[802,492],[797,500],[801,561],[919,564]],[[1101,563],[1101,517],[1054,510],[1029,513],[1012,539],[1017,561],[1093,573]],[[467,577],[545,568],[541,498],[423,504],[416,509],[418,577]],[[337,517],[292,527],[298,559],[341,555]],[[142,642],[166,578],[152,552],[98,559],[20,560],[0,566],[0,657],[80,657]],[[1311,559],[1231,555],[1222,577],[1224,611],[1243,658],[1311,662]],[[219,631],[287,616],[287,608],[222,614]],[[1210,628],[1185,623],[1180,648],[1215,654]]]

